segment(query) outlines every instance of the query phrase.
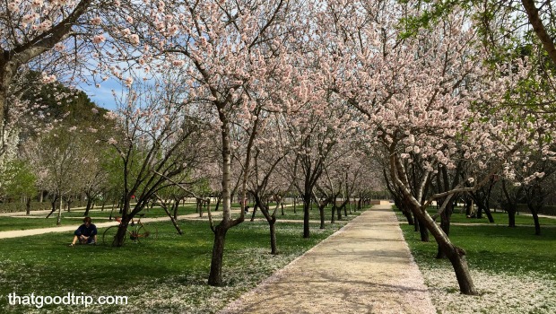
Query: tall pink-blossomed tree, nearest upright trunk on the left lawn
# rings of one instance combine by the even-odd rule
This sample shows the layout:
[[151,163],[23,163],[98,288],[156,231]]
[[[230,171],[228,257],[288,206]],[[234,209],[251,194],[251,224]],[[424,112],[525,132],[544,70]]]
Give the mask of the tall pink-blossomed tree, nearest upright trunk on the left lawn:
[[[128,14],[115,13],[111,19],[114,25],[107,28],[109,38],[99,38],[98,42],[117,43],[115,47],[119,48],[101,57],[126,60],[126,65],[100,65],[100,70],[108,71],[126,85],[136,82],[131,78],[133,73],[147,77],[170,68],[181,70],[184,79],[180,82],[187,85],[187,97],[196,99],[197,108],[206,113],[206,122],[220,132],[223,213],[222,221],[214,227],[208,282],[222,285],[225,236],[243,221],[243,215],[231,218],[234,147],[230,130],[236,124],[249,129],[256,123],[256,99],[264,99],[271,91],[266,84],[269,77],[280,74],[275,82],[291,82],[291,61],[284,57],[282,47],[288,37],[296,35],[296,27],[303,25],[297,15],[304,11],[294,1],[258,0],[132,2],[122,4],[122,8]],[[274,101],[266,98],[263,105],[273,107]],[[246,153],[244,172],[250,161],[249,150]]]

